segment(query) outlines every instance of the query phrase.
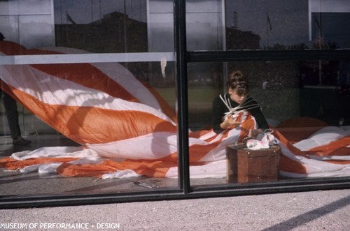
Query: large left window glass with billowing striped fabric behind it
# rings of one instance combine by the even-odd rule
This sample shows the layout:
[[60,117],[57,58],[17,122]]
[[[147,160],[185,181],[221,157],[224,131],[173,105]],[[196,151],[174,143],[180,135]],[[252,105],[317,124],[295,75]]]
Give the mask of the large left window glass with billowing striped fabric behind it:
[[0,195],[178,188],[174,44],[148,43],[167,22],[148,1],[31,2],[0,3]]

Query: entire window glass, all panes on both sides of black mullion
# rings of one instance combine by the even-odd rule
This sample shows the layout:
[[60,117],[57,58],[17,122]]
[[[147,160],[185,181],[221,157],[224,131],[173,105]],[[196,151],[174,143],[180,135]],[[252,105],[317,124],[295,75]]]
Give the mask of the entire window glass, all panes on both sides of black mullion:
[[[228,91],[232,70],[246,73],[257,102],[250,106],[262,110],[283,148],[281,161],[273,156],[274,181],[349,176],[349,60],[336,57],[350,47],[345,2],[188,0],[181,61],[229,50],[253,51],[260,61],[190,62],[188,73],[176,73],[172,0],[0,1],[1,99],[17,100],[0,107],[0,195],[177,193],[179,132],[189,132],[192,186],[246,182],[228,180],[226,148],[251,136],[254,119],[261,128],[264,121],[240,114],[244,129],[212,130],[213,100]],[[307,60],[261,61],[269,57],[258,50],[334,50],[335,58],[319,60],[317,51]],[[188,81],[181,119],[190,131],[178,131],[179,76]],[[25,140],[13,140],[11,111]]]

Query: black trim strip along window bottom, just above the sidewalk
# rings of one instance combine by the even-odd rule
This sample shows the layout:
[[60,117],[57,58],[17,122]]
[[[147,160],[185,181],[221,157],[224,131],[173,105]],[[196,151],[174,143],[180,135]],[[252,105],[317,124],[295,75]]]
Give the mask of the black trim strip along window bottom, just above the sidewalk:
[[159,200],[186,200],[195,198],[228,197],[239,195],[261,195],[271,193],[297,193],[303,191],[339,190],[350,188],[350,177],[332,179],[298,179],[255,184],[223,184],[197,186],[193,192],[157,189],[157,191],[105,193],[98,195],[48,195],[18,198],[0,198],[0,209],[27,207],[78,206],[87,204],[111,204]]

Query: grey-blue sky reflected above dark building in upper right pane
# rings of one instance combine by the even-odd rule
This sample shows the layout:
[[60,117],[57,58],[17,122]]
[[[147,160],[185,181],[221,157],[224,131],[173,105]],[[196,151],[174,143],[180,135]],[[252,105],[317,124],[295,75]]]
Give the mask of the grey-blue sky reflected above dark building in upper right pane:
[[260,47],[308,43],[308,2],[305,0],[293,0],[293,4],[281,0],[235,0],[226,1],[226,8],[230,9],[226,12],[228,27],[232,26],[236,12],[237,29],[258,34]]

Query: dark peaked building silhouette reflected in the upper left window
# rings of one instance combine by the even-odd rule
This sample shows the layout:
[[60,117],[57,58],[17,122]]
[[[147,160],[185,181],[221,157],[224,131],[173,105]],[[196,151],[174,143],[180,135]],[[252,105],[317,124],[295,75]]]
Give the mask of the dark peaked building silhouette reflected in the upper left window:
[[114,12],[90,24],[56,24],[56,45],[90,52],[147,52],[147,25]]

